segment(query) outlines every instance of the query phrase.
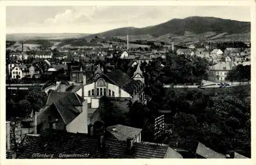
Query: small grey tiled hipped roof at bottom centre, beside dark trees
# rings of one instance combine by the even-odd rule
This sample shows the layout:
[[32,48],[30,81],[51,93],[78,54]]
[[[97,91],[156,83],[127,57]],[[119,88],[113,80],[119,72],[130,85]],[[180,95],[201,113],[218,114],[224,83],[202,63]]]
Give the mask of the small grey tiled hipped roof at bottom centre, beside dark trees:
[[[113,130],[115,128],[115,130]],[[142,131],[140,128],[129,127],[125,125],[113,125],[106,128],[117,140],[126,141],[128,137],[133,137],[134,139]]]

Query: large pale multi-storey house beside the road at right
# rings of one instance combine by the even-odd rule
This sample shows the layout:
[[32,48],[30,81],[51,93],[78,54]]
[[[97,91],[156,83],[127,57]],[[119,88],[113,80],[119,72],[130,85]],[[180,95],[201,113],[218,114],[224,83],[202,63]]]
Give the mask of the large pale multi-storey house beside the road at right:
[[227,73],[236,66],[234,62],[218,62],[209,68],[209,81],[225,82]]

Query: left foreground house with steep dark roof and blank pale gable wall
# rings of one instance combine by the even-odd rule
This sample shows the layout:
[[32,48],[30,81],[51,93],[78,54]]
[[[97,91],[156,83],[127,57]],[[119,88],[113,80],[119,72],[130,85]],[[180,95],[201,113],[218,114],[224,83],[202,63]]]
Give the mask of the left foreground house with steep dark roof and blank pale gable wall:
[[51,92],[46,108],[37,114],[36,129],[38,133],[48,128],[74,133],[88,132],[87,100],[76,93],[63,92],[66,89],[65,86],[65,84],[60,84],[60,92]]

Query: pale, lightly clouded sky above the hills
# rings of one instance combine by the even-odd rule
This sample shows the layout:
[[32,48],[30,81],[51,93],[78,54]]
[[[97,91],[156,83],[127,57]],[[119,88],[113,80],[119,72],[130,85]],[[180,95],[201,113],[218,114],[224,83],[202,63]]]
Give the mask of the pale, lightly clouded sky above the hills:
[[246,6],[7,6],[6,31],[12,33],[94,34],[173,18],[212,16],[250,21]]

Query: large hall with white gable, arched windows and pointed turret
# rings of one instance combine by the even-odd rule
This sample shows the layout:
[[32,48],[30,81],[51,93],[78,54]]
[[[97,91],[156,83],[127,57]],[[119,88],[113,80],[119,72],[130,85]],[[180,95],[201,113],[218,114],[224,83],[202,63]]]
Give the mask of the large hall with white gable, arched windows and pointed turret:
[[84,95],[84,99],[87,99],[93,108],[98,108],[99,98],[102,96],[132,98],[132,102],[144,101],[143,89],[144,77],[137,69],[133,78],[120,70],[115,70],[102,74],[93,82],[84,80],[83,85],[73,92],[79,96]]

